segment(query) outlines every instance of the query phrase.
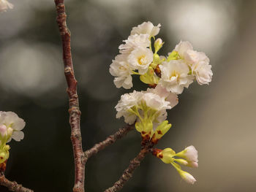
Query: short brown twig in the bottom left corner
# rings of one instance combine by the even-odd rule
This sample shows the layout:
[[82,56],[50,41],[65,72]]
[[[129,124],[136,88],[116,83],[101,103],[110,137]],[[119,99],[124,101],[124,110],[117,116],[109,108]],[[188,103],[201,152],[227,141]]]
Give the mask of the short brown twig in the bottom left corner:
[[15,192],[33,192],[33,190],[29,188],[24,188],[22,185],[19,185],[15,181],[7,180],[4,174],[0,174],[0,185],[3,185],[9,189],[9,191]]

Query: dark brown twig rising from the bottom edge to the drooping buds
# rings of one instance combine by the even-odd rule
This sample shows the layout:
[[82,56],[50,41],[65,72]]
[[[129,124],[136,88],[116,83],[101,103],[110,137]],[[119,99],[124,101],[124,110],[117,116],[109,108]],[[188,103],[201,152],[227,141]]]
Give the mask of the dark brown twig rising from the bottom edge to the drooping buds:
[[144,144],[142,142],[142,149],[140,150],[140,153],[130,161],[129,166],[127,169],[124,170],[123,174],[119,178],[114,185],[108,189],[105,190],[105,192],[116,192],[121,190],[121,188],[124,187],[124,184],[127,183],[127,181],[132,177],[132,173],[134,170],[140,166],[140,162],[143,161],[147,153],[151,153],[151,149],[154,144],[152,143],[147,143]]

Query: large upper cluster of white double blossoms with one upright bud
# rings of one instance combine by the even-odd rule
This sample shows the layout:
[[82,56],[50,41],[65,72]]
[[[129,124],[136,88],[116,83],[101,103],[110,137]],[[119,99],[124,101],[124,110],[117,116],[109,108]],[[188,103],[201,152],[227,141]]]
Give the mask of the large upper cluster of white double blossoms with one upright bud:
[[128,39],[119,46],[120,54],[110,65],[116,87],[132,88],[132,74],[140,75],[140,80],[146,84],[159,84],[176,94],[182,93],[194,80],[199,85],[211,82],[213,73],[209,58],[205,53],[193,50],[189,42],[179,42],[165,57],[158,55],[164,42],[157,39],[153,51],[151,39],[155,39],[160,26],[144,22],[132,28]]

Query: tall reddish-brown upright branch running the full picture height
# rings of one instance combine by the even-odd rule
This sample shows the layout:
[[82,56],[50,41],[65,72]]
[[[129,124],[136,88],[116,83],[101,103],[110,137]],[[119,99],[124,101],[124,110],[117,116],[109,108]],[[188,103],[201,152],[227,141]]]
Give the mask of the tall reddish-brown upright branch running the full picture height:
[[80,110],[77,94],[77,80],[75,80],[71,47],[70,32],[67,28],[64,0],[55,0],[57,23],[61,34],[63,47],[64,73],[67,80],[67,93],[69,95],[69,123],[71,126],[71,140],[75,158],[75,185],[74,192],[84,191],[85,167],[83,164],[82,137],[80,133]]

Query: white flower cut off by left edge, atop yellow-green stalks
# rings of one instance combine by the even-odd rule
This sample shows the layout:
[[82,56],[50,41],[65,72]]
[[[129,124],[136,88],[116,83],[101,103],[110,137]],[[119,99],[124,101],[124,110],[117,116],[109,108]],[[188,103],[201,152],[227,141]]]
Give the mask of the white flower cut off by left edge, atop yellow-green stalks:
[[12,128],[12,139],[19,142],[24,138],[24,133],[21,131],[25,126],[25,121],[18,117],[15,112],[0,112],[0,125],[4,125],[8,128],[8,131]]

